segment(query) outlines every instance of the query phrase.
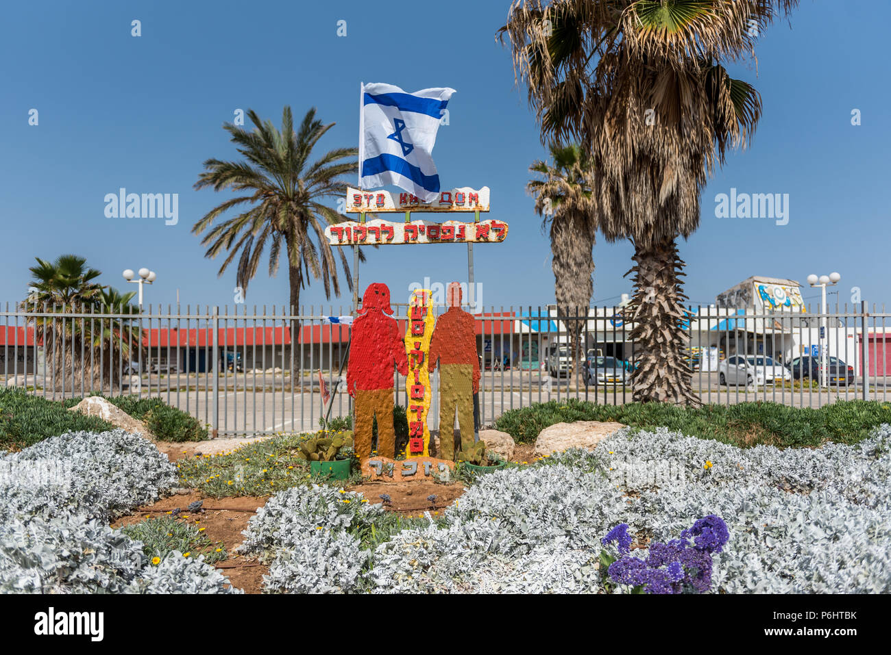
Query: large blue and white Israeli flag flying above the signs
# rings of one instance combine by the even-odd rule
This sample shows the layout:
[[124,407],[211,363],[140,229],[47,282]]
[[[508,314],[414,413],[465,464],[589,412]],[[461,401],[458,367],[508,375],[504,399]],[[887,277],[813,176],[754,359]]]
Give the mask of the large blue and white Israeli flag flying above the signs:
[[359,186],[395,184],[422,202],[439,193],[433,144],[454,89],[405,93],[398,86],[361,85]]

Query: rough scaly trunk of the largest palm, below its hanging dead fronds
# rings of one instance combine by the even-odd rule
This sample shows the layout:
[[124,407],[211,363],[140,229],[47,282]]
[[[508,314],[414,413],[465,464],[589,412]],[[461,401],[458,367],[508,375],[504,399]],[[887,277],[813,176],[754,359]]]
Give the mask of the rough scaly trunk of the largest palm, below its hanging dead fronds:
[[683,360],[683,260],[674,239],[634,243],[634,320],[631,339],[639,366],[632,375],[636,402],[700,404],[692,390],[692,371]]

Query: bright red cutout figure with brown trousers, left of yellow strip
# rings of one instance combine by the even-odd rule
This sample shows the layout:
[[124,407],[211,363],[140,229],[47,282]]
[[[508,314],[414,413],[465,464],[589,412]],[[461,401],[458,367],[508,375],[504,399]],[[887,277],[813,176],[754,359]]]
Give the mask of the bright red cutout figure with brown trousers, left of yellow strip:
[[375,282],[365,289],[362,309],[353,322],[347,362],[347,391],[356,399],[354,440],[360,459],[371,457],[372,424],[378,418],[378,454],[396,457],[393,428],[393,368],[408,374],[405,346],[396,319],[390,318],[387,285]]

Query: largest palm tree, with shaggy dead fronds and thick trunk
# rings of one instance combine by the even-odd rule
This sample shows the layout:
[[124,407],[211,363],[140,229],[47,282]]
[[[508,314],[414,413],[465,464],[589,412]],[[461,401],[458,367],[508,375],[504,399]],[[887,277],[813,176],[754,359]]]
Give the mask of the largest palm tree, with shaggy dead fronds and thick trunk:
[[515,0],[517,77],[543,140],[575,138],[593,162],[606,239],[634,243],[634,400],[698,402],[683,361],[683,262],[699,194],[725,152],[745,147],[760,97],[722,61],[797,0]]

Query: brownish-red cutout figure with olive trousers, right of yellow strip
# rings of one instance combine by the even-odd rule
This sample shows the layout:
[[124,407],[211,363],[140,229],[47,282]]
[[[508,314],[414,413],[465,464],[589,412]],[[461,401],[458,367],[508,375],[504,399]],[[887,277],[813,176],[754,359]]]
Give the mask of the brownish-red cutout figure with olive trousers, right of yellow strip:
[[473,449],[473,394],[479,391],[479,359],[473,315],[461,309],[461,285],[452,282],[448,310],[437,319],[430,339],[429,371],[439,363],[439,457],[454,460],[455,411],[462,450]]

